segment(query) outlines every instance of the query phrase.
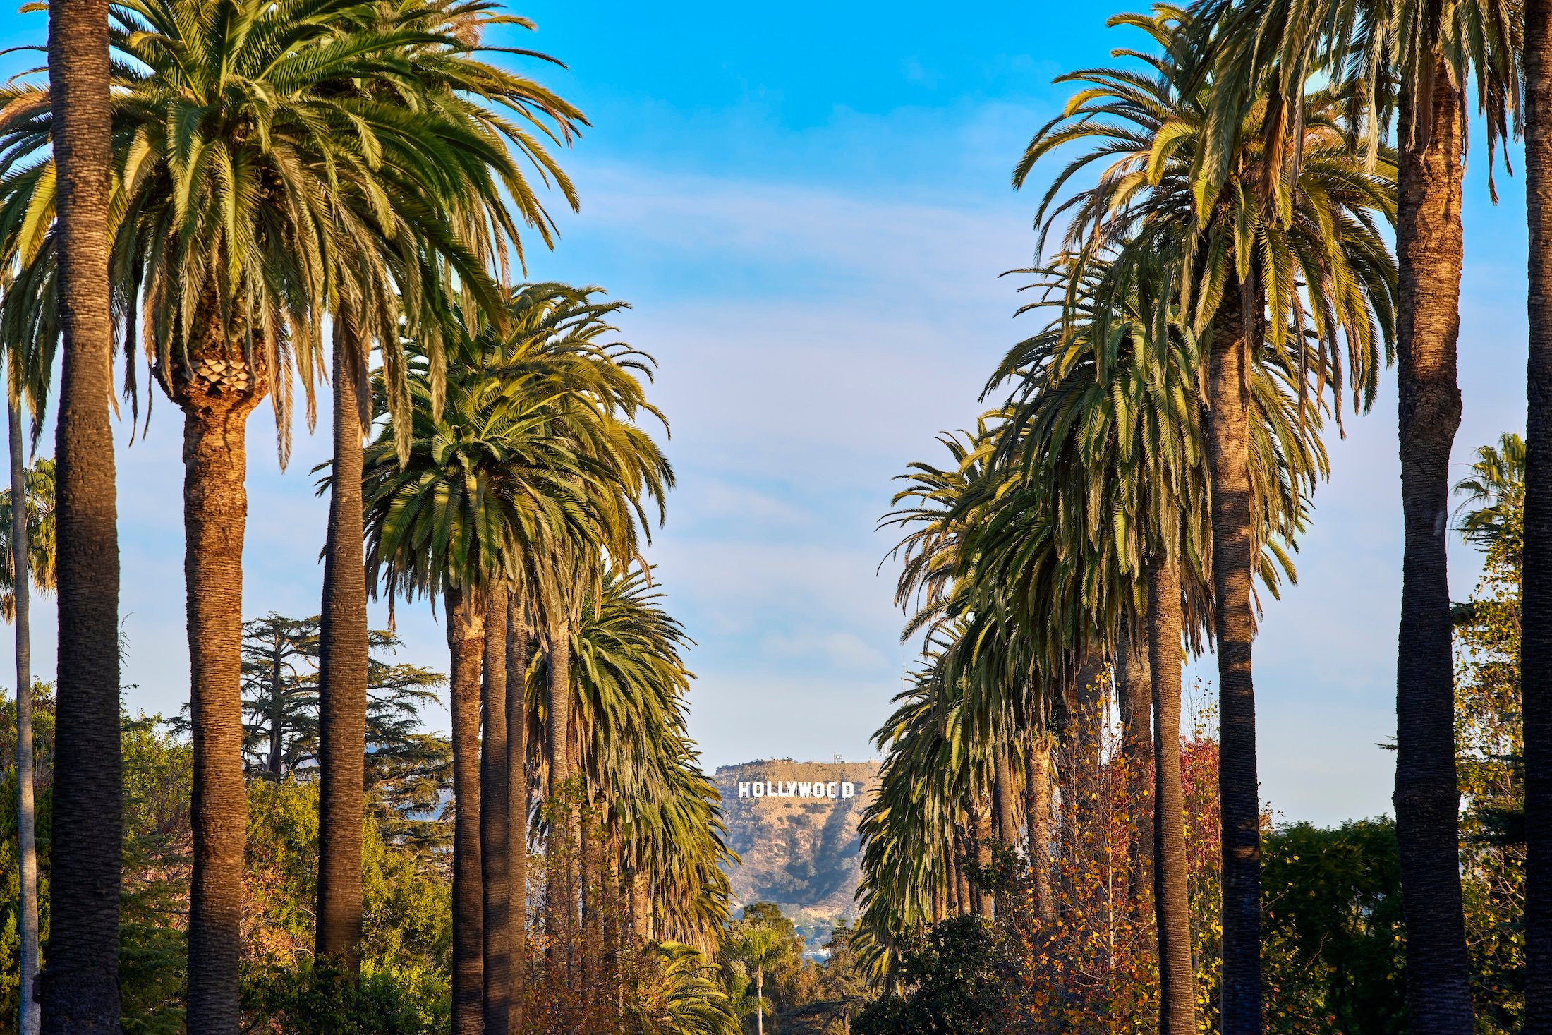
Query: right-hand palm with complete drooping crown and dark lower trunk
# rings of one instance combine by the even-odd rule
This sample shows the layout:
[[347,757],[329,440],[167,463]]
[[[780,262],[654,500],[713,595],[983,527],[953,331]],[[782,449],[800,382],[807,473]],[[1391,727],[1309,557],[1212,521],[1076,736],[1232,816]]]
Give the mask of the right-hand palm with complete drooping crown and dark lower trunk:
[[[1301,396],[1330,389],[1339,405],[1350,380],[1355,408],[1374,396],[1381,341],[1389,351],[1395,309],[1394,265],[1374,216],[1394,217],[1394,164],[1366,164],[1341,123],[1339,98],[1301,98],[1294,135],[1301,163],[1284,169],[1270,140],[1274,101],[1252,95],[1223,135],[1209,137],[1211,88],[1195,74],[1190,16],[1119,16],[1113,25],[1144,29],[1162,51],[1141,56],[1150,74],[1088,70],[1063,76],[1083,93],[1031,141],[1013,174],[1024,183],[1037,161],[1063,144],[1096,147],[1068,163],[1041,202],[1037,223],[1052,230],[1071,213],[1066,247],[1096,256],[1117,245],[1113,267],[1125,272],[1152,254],[1180,262],[1183,313],[1209,335],[1203,355],[1206,444],[1212,506],[1212,583],[1220,694],[1220,798],[1223,808],[1223,1030],[1259,1032],[1260,988],[1260,801],[1256,762],[1256,698],[1251,601],[1257,556],[1251,489],[1252,365],[1270,351],[1302,351]],[[1130,53],[1130,51],[1128,51]],[[1225,188],[1206,199],[1195,189],[1200,164],[1221,160]],[[1099,183],[1074,191],[1052,209],[1072,177],[1105,161]],[[1291,175],[1276,208],[1259,186]],[[1117,282],[1125,282],[1121,278]],[[1318,304],[1310,299],[1318,299]],[[1378,327],[1377,327],[1378,324]],[[1344,371],[1341,352],[1347,354]]]

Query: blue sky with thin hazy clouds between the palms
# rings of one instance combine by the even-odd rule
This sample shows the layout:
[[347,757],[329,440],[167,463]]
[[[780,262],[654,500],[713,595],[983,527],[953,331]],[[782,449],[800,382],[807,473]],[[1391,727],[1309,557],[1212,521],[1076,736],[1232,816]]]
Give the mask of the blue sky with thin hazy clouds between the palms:
[[[1145,40],[1103,26],[1110,0],[517,9],[539,33],[501,42],[565,61],[523,68],[593,124],[563,155],[582,211],[560,217],[554,253],[529,241],[529,276],[629,299],[622,337],[661,366],[678,489],[649,556],[697,641],[703,762],[872,757],[913,659],[894,568],[878,569],[889,479],[944,459],[934,434],[975,424],[987,372],[1034,329],[1012,320],[1020,279],[998,275],[1034,259],[1037,196],[1009,174],[1066,96],[1051,79]],[[0,16],[14,43],[43,28]],[[1524,191],[1502,174],[1498,189],[1495,208],[1473,154],[1460,466],[1524,422]],[[1391,810],[1392,756],[1377,745],[1394,734],[1400,605],[1394,371],[1347,431],[1330,442],[1299,585],[1268,605],[1256,649],[1262,796],[1290,819]],[[127,701],[172,712],[188,697],[177,410],[158,399],[149,436],[127,439],[121,427]],[[267,407],[248,445],[245,611],[315,613],[326,507],[309,470],[327,428],[298,421],[284,473]],[[1457,599],[1478,568],[1454,549]],[[445,669],[430,608],[400,604],[397,621],[402,656]],[[34,628],[47,678],[51,622]],[[1211,658],[1195,672],[1211,683]]]

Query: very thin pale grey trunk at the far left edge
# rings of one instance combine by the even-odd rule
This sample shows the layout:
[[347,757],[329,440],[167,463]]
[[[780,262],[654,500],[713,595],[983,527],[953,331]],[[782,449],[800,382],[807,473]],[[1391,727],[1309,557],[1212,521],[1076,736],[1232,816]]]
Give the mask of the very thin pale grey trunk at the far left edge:
[[16,597],[16,829],[20,853],[20,1018],[22,1035],[37,1035],[42,1015],[33,987],[37,982],[37,833],[33,801],[33,574],[26,542],[26,466],[22,462],[22,379],[11,354],[11,585]]

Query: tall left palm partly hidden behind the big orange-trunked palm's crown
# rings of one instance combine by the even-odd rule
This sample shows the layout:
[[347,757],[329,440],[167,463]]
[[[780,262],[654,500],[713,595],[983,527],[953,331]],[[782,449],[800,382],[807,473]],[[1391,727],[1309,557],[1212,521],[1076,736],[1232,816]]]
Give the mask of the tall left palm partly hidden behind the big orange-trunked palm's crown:
[[[380,12],[374,16],[382,17]],[[413,109],[430,113],[449,127],[462,127],[466,137],[407,133],[393,143],[407,147],[390,152],[386,175],[397,182],[400,196],[436,189],[436,209],[405,209],[410,217],[396,233],[382,233],[382,251],[363,250],[355,279],[383,281],[390,307],[419,299],[421,312],[410,312],[413,323],[439,318],[439,295],[427,290],[435,270],[419,268],[436,262],[452,242],[483,242],[483,261],[497,262],[503,242],[521,256],[517,222],[534,227],[545,244],[554,239],[554,225],[521,166],[508,149],[515,149],[546,182],[554,182],[566,203],[576,208],[571,182],[548,154],[545,141],[568,143],[580,112],[537,82],[497,68],[480,59],[478,40],[492,22],[532,28],[526,19],[497,12],[484,3],[427,3],[399,6],[382,28],[416,28],[428,36],[404,53],[405,68],[366,84],[363,93],[386,109],[414,98]],[[447,45],[449,34],[462,45]],[[473,47],[467,43],[473,40]],[[525,51],[540,61],[543,54]],[[559,62],[557,62],[559,64]],[[498,113],[500,112],[500,113]],[[405,112],[410,116],[410,112]],[[517,123],[508,116],[515,115]],[[410,116],[425,121],[425,115]],[[504,146],[503,146],[504,144]],[[363,213],[363,223],[374,225],[379,213]],[[386,259],[386,261],[385,261]],[[383,265],[377,270],[376,265]],[[400,290],[394,292],[391,286]],[[393,320],[376,334],[362,318],[359,304],[345,304],[335,315],[332,343],[334,371],[334,466],[338,478],[329,493],[329,526],[324,546],[321,681],[323,736],[320,759],[320,880],[318,954],[334,956],[349,968],[359,965],[362,929],[362,798],[360,760],[366,723],[366,583],[355,565],[362,556],[362,439],[371,419],[366,389],[369,351],[376,341],[385,351],[385,369],[393,377],[390,410],[400,427],[407,419],[402,386],[402,355]],[[411,323],[411,326],[413,326]],[[425,340],[435,348],[436,335]]]

